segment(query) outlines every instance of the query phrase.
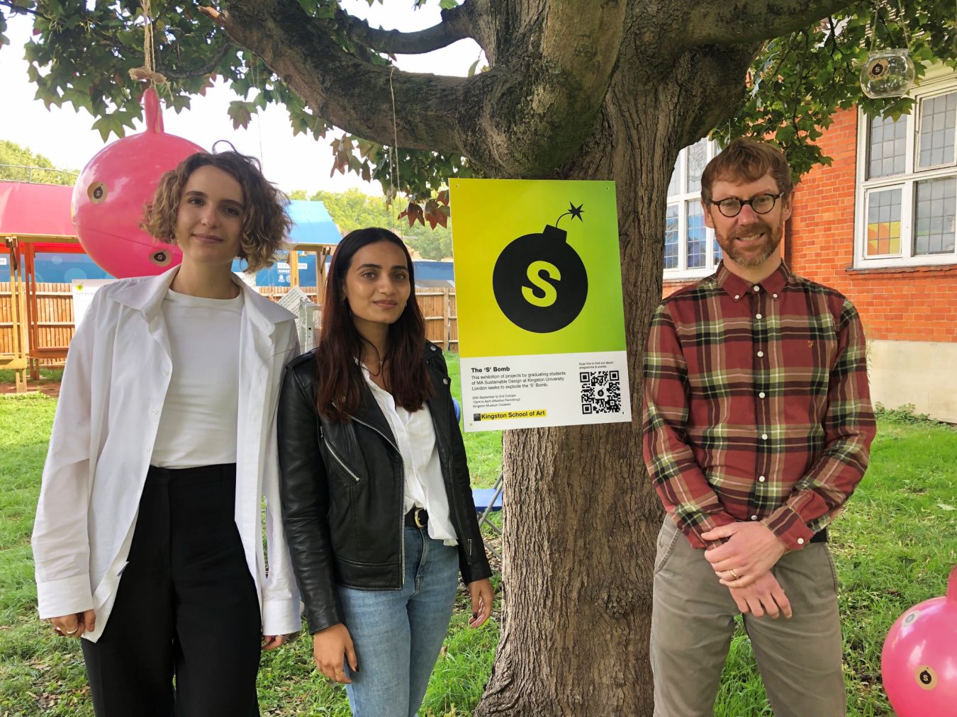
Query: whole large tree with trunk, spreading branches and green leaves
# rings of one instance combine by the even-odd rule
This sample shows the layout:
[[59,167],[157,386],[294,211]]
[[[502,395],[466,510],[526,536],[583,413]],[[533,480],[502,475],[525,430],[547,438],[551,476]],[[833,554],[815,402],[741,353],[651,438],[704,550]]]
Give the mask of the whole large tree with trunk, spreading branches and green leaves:
[[[331,0],[214,8],[153,0],[167,101],[186,106],[222,76],[239,96],[230,108],[237,125],[279,102],[297,132],[340,127],[334,170],[379,180],[390,199],[395,185],[422,201],[470,175],[614,180],[635,413],[679,150],[709,132],[721,141],[769,132],[806,171],[827,161],[812,141],[835,109],[861,99],[857,62],[869,45],[900,45],[906,25],[919,59],[952,61],[955,52],[952,0],[441,5],[434,28],[398,33]],[[86,107],[104,137],[139,117],[140,88],[126,79],[143,64],[135,2],[0,6],[34,15],[26,53],[40,97]],[[488,72],[389,66],[394,54],[464,37],[484,51]],[[896,113],[909,102],[864,106]],[[642,469],[640,421],[507,432],[503,458],[503,624],[478,713],[651,714],[646,655],[661,516]]]

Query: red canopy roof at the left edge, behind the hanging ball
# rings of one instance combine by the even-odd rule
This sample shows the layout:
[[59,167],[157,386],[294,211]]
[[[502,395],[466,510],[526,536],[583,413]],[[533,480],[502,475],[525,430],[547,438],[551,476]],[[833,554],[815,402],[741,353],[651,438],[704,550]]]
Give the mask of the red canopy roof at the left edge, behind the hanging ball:
[[[72,186],[0,182],[0,237],[77,236],[70,216]],[[82,251],[78,245],[37,243],[37,250]]]

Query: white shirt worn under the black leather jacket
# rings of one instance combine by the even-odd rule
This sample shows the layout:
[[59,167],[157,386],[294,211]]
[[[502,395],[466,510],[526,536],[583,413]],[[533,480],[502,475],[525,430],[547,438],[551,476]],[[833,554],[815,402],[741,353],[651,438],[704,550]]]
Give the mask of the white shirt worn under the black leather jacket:
[[458,545],[456,529],[449,517],[449,496],[445,492],[438,445],[435,444],[435,426],[428,406],[410,413],[402,406],[395,405],[392,395],[379,388],[369,378],[366,366],[360,365],[372,396],[386,415],[399,453],[402,454],[402,465],[406,471],[406,512],[411,511],[413,506],[429,511],[429,537],[441,540],[445,545]]

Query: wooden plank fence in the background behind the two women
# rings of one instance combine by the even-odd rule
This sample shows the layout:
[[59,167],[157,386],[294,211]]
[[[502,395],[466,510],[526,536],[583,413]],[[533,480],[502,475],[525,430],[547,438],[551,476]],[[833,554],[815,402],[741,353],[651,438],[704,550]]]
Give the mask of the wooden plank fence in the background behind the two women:
[[[300,287],[311,300],[316,300],[316,287]],[[278,301],[287,287],[259,287],[262,295]],[[447,351],[458,351],[458,320],[454,289],[422,288],[415,292],[425,316],[426,337]],[[36,348],[69,346],[73,338],[73,297],[70,284],[36,285]],[[10,284],[0,283],[0,354],[13,352],[13,314]],[[62,365],[62,360],[42,359],[40,365]]]

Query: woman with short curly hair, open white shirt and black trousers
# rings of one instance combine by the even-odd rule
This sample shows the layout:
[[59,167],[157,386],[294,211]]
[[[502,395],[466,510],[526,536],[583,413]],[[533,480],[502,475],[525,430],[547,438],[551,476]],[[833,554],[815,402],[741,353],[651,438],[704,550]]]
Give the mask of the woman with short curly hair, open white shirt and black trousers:
[[253,158],[189,156],[143,224],[182,264],[101,288],[71,343],[33,556],[98,715],[257,715],[260,649],[300,629],[275,424],[294,317],[232,272],[272,263],[284,203]]

